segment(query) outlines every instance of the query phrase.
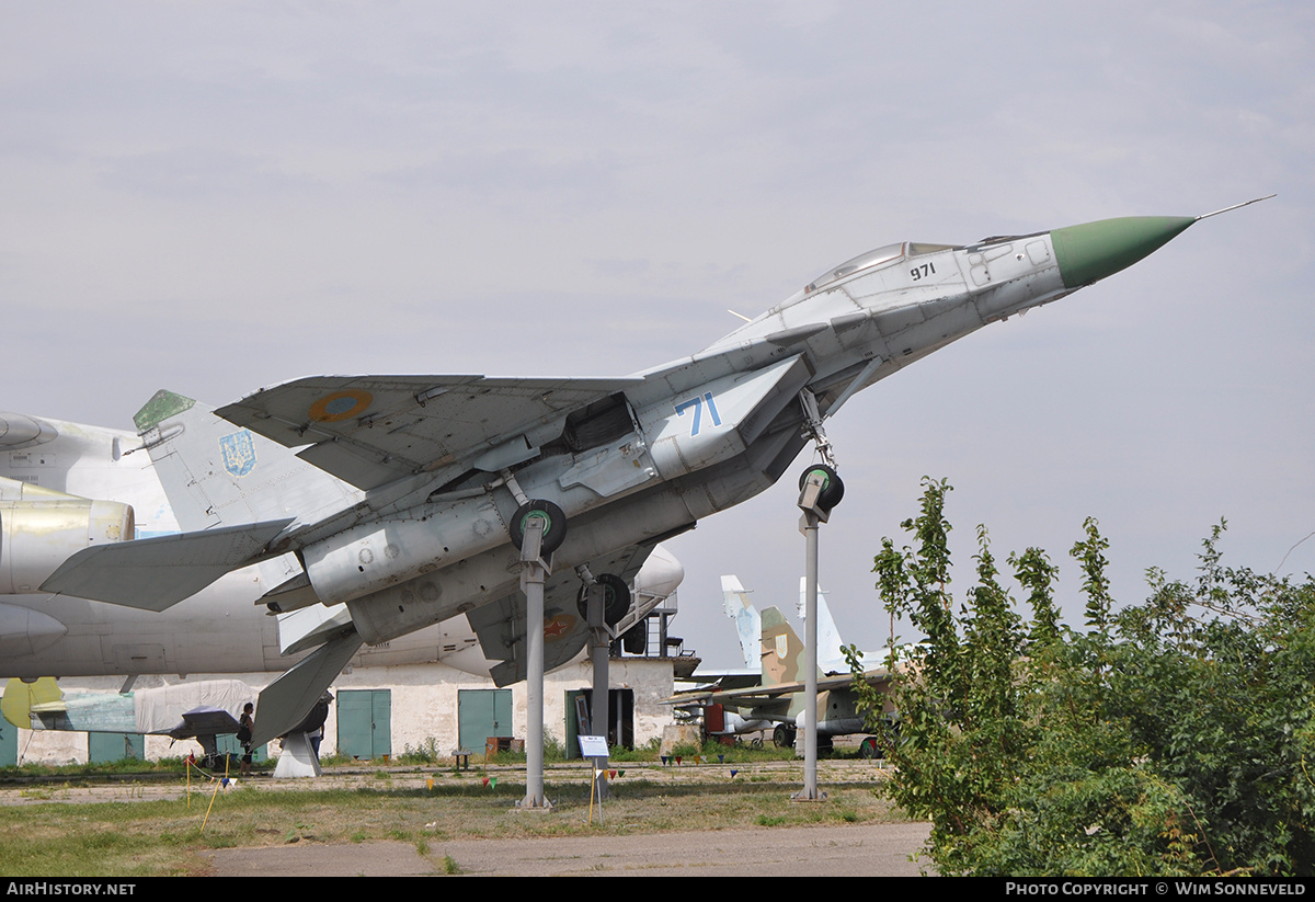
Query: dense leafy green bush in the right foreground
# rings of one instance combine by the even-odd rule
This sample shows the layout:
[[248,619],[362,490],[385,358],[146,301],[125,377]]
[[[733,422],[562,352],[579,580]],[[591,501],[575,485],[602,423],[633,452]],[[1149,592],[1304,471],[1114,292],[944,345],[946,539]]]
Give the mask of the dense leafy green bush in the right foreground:
[[940,873],[1315,870],[1310,576],[1223,567],[1220,523],[1195,584],[1152,571],[1151,597],[1116,610],[1109,543],[1088,519],[1070,552],[1086,596],[1076,631],[1059,622],[1057,569],[1040,550],[1007,559],[1031,617],[1014,610],[980,527],[977,581],[956,609],[949,485],[923,485],[920,514],[902,523],[914,544],[882,540],[873,572],[892,615],[927,636],[892,688],[899,742],[885,792],[931,820]]

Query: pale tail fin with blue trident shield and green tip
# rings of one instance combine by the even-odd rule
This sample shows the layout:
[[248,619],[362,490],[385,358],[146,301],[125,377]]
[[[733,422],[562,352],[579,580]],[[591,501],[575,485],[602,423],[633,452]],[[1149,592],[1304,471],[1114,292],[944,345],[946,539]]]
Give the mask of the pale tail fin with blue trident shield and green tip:
[[284,519],[314,522],[362,493],[292,450],[160,389],[133,417],[184,533]]

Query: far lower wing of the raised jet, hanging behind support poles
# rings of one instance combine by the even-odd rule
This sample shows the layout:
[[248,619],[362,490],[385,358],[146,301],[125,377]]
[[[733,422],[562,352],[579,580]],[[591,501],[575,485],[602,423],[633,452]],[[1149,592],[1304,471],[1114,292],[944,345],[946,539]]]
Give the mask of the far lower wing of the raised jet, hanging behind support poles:
[[[615,573],[626,585],[644,565],[654,546],[627,546],[589,561],[594,575]],[[551,671],[568,663],[589,640],[589,625],[580,615],[576,598],[580,577],[573,569],[562,569],[543,586],[543,668]],[[484,657],[493,667],[490,675],[498,686],[525,678],[525,596],[515,592],[466,613],[480,639]]]

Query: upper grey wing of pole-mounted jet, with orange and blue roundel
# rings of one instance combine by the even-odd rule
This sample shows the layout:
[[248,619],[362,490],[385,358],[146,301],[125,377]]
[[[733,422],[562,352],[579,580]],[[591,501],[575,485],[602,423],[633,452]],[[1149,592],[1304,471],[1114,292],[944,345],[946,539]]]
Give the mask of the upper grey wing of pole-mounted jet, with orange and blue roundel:
[[313,376],[216,413],[370,490],[401,476],[497,471],[562,434],[568,413],[642,379]]

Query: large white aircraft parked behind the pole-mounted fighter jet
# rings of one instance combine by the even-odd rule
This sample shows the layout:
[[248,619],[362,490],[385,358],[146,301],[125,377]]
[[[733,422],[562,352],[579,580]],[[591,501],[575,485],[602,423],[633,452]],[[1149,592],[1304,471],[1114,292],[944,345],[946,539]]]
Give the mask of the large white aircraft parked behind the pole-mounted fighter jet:
[[[266,615],[262,597],[288,561],[225,573],[185,602],[158,613],[55,596],[37,586],[89,546],[179,533],[196,500],[172,508],[141,439],[128,431],[0,414],[0,677],[281,672],[322,635],[350,623],[343,605]],[[175,518],[175,511],[179,517]],[[664,548],[635,577],[635,604],[619,629],[640,619],[680,582]],[[583,618],[559,606],[546,621],[554,660],[584,646]],[[355,667],[442,661],[488,676],[502,663],[501,625],[455,617],[397,640],[362,648]]]

